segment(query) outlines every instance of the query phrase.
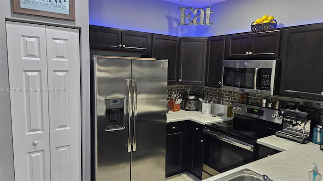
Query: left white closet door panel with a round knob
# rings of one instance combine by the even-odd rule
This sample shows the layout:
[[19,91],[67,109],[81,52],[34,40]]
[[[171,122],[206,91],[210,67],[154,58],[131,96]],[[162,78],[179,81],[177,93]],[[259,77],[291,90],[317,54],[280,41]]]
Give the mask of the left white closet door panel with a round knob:
[[7,22],[16,180],[49,180],[49,117],[45,26]]

